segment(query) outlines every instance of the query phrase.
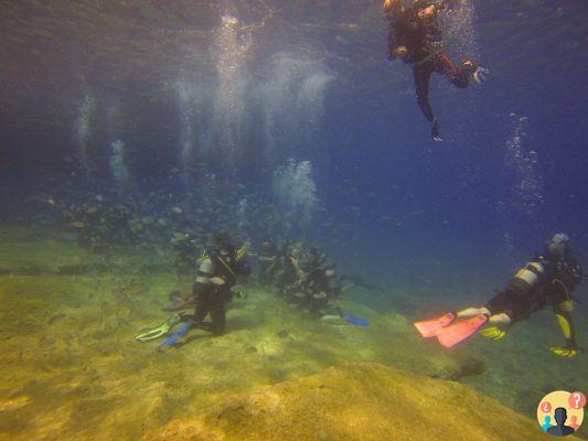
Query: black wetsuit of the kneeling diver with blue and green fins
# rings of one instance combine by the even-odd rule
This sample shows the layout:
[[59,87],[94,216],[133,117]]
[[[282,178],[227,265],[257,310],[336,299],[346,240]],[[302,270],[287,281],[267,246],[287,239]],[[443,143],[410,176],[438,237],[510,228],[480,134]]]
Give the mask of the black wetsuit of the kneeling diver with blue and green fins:
[[[238,276],[248,276],[249,272],[247,261],[237,261],[234,256],[216,255],[205,259],[196,272],[196,282],[192,289],[196,300],[195,324],[202,326],[204,318],[210,313],[212,319],[210,331],[215,335],[223,334],[226,326],[226,302],[233,298],[231,288],[237,282]],[[225,283],[216,286],[201,281],[213,277],[220,277]]]

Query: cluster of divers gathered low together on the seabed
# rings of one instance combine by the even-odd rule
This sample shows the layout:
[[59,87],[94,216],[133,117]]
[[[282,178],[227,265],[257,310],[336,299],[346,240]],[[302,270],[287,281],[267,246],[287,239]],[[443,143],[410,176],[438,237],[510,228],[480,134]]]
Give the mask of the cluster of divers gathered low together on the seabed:
[[[137,341],[145,343],[167,336],[181,322],[184,325],[159,345],[159,349],[175,345],[192,327],[210,331],[213,335],[225,332],[227,303],[235,297],[246,297],[246,291],[237,283],[252,273],[247,259],[253,254],[249,251],[250,243],[247,240],[237,249],[227,234],[220,233],[200,256],[199,243],[195,237],[188,235],[181,241],[181,247],[175,246],[178,255],[174,269],[178,279],[195,272],[192,292],[172,291],[169,295],[171,303],[163,310],[173,312],[173,315],[161,325],[137,335]],[[368,320],[332,306],[330,301],[339,299],[354,287],[368,290],[381,288],[366,283],[361,277],[339,275],[332,260],[317,248],[307,248],[302,243],[264,239],[255,255],[258,263],[256,279],[276,291],[291,306],[299,306],[323,321],[348,322],[357,326],[370,324]],[[183,313],[189,309],[194,310],[192,315]],[[211,321],[204,322],[209,314]]]

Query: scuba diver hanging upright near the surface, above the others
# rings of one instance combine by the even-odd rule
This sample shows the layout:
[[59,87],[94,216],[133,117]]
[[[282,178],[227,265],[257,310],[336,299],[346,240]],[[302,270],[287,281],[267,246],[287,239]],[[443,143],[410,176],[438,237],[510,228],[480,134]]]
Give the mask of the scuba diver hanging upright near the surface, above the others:
[[434,72],[449,78],[459,88],[485,80],[490,71],[467,60],[458,68],[445,54],[441,28],[437,13],[453,8],[459,0],[415,0],[404,7],[402,0],[385,0],[384,17],[389,22],[388,60],[400,58],[413,66],[417,100],[423,114],[431,123],[431,137],[442,141],[439,120],[429,104],[429,82]]

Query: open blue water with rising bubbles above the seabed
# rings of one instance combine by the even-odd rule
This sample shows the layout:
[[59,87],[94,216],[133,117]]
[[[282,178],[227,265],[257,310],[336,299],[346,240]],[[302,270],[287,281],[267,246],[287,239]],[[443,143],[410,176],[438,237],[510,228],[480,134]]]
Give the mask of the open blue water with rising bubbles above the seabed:
[[[310,161],[321,209],[291,238],[385,286],[354,297],[375,309],[415,318],[481,303],[557,232],[588,261],[588,2],[474,1],[448,55],[491,74],[467,89],[432,76],[440,143],[409,67],[386,60],[373,1],[99,8],[22,1],[0,12],[3,225],[67,228],[61,213],[96,195],[214,196],[224,216],[244,197],[284,206],[271,185],[292,159]],[[129,172],[118,195],[116,140]],[[254,247],[259,216],[233,232]],[[158,234],[169,243],[171,232]],[[576,314],[586,322],[586,306]]]

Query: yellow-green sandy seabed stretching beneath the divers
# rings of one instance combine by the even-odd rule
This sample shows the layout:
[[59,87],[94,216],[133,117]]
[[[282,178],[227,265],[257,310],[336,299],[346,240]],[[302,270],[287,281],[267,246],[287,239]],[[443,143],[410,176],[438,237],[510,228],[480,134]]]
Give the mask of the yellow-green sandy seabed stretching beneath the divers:
[[588,390],[585,359],[539,347],[549,316],[446,352],[398,313],[342,300],[372,324],[327,323],[259,287],[231,303],[226,335],[158,352],[133,336],[190,289],[171,254],[105,261],[43,230],[0,238],[2,440],[541,440],[541,397]]

